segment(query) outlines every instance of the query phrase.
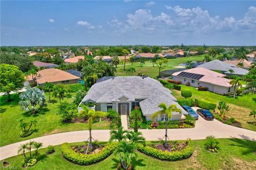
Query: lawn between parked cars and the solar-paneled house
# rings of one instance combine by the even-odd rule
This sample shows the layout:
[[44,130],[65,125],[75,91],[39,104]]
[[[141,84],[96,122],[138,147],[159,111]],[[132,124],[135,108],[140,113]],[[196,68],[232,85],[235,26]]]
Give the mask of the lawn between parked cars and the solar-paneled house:
[[[228,116],[236,118],[242,125],[243,128],[256,131],[255,124],[252,124],[253,117],[249,116],[250,111],[256,109],[256,96],[253,94],[236,96],[223,96],[215,94],[209,91],[198,91],[195,87],[180,85],[181,90],[189,90],[192,92],[193,99],[202,99],[205,101],[213,102],[218,104],[219,101],[225,101],[230,104],[230,111]],[[183,99],[180,91],[172,90],[173,95],[176,99]],[[217,110],[218,111],[218,110]]]

